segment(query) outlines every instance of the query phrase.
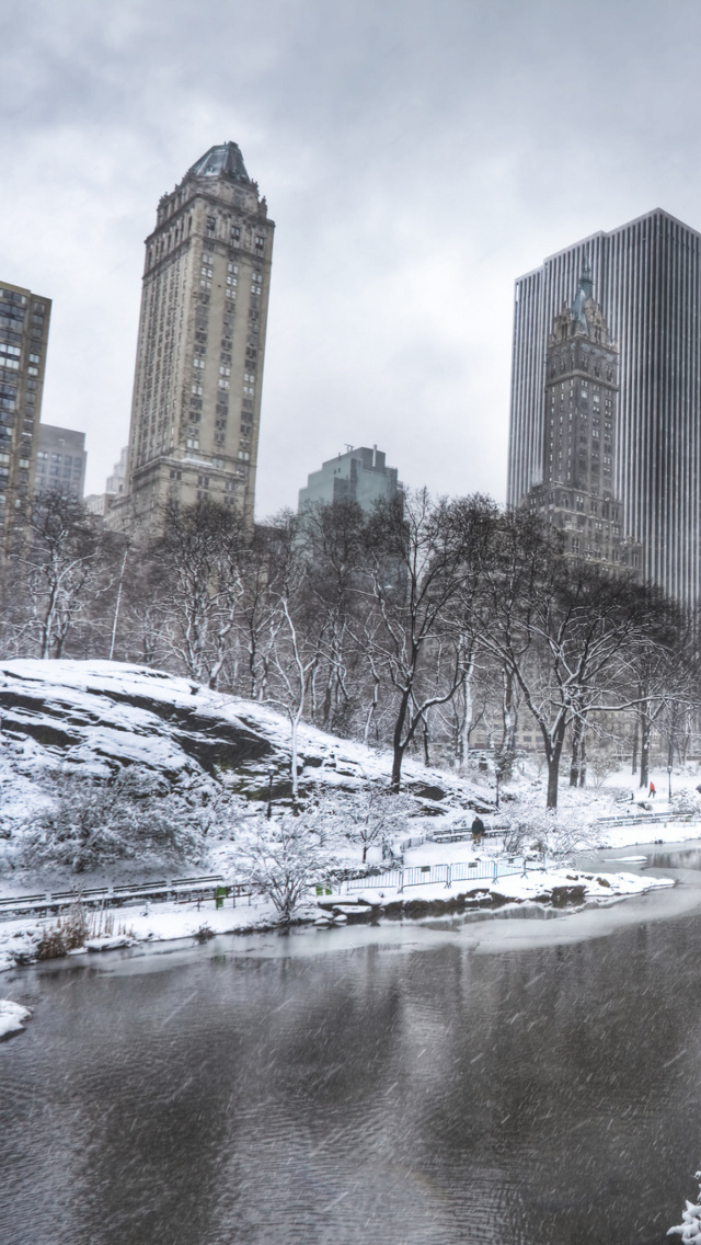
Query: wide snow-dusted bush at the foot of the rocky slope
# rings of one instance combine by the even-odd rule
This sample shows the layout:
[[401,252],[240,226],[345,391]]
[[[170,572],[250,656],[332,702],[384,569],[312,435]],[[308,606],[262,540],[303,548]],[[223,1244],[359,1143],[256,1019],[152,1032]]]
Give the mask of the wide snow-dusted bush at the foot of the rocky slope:
[[207,793],[173,792],[146,768],[122,769],[108,781],[64,774],[47,794],[52,806],[24,840],[24,865],[70,865],[82,873],[118,859],[184,860],[200,853]]

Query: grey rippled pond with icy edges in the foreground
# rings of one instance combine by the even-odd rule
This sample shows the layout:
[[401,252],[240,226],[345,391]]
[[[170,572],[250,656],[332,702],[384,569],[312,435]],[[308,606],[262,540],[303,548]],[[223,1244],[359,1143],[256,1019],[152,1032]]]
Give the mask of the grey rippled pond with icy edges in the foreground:
[[701,855],[655,850],[682,884],[608,911],[5,974],[0,1240],[661,1245],[701,1162]]

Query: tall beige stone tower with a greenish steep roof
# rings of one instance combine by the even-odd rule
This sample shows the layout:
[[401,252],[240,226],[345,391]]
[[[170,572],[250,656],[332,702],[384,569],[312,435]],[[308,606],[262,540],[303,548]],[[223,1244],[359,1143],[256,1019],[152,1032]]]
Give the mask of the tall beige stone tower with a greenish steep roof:
[[235,143],[158,204],[146,266],[127,489],[110,527],[158,528],[169,499],[253,519],[275,225]]

